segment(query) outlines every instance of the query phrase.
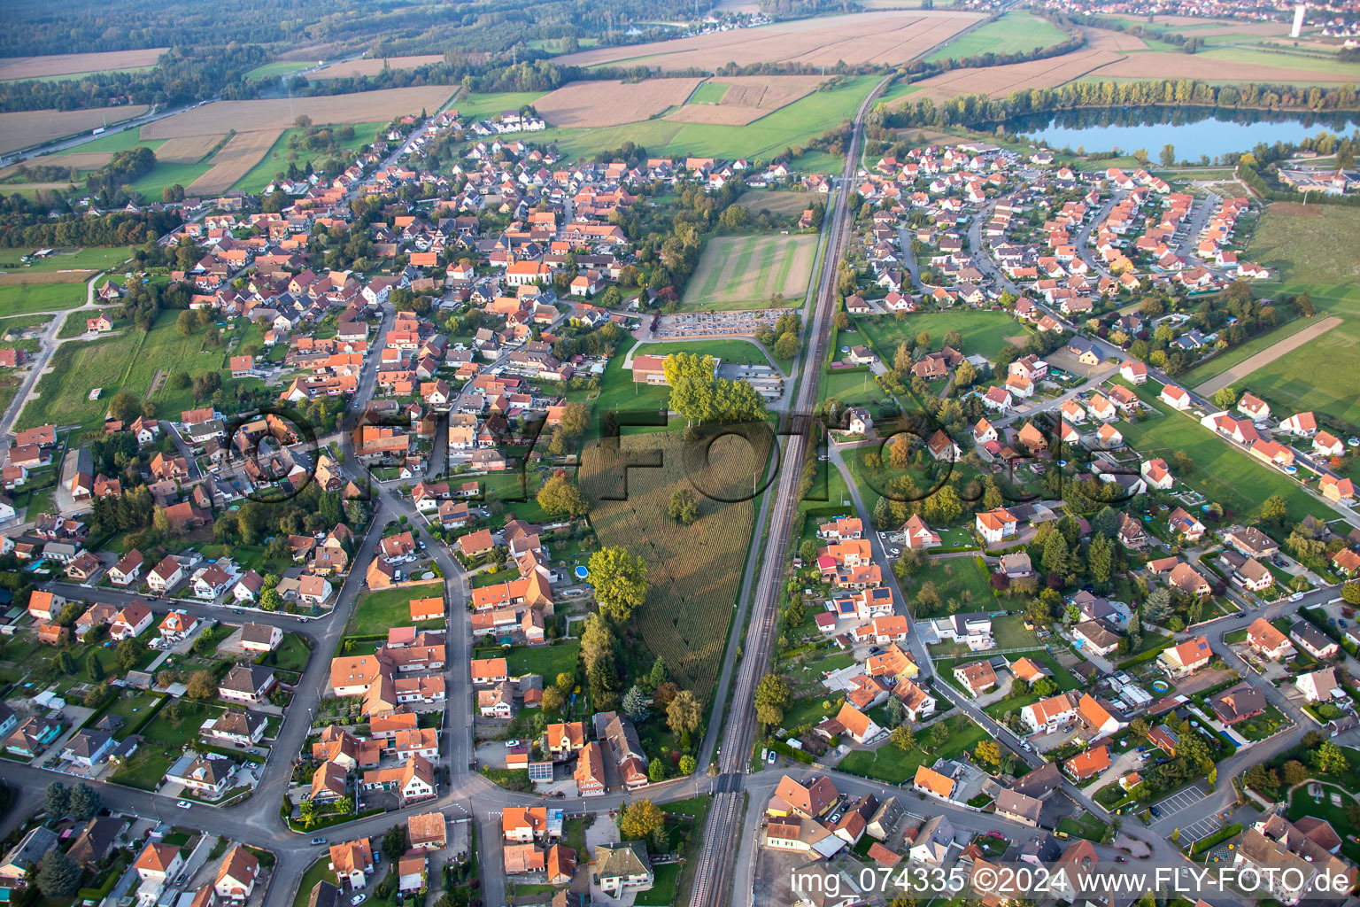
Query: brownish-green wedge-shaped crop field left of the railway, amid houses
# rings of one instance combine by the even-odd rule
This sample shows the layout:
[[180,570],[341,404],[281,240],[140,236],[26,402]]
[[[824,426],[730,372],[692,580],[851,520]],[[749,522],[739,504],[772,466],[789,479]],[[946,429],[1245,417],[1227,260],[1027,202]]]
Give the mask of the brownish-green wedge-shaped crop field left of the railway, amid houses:
[[[695,481],[713,496],[749,496],[751,481],[764,466],[766,453],[752,457],[747,442],[718,439],[706,465],[685,469],[680,427],[647,434],[624,432],[620,451],[658,449],[657,469],[624,473],[598,443],[582,451],[581,491],[592,503],[590,522],[601,545],[622,545],[647,563],[650,590],[632,616],[632,628],[681,688],[707,703],[724,657],[732,609],[745,572],[747,548],[755,517],[752,500],[725,503],[696,495],[699,519],[679,526],[666,517],[670,494]],[[627,483],[627,495],[623,494]],[[605,500],[604,495],[627,496]]]

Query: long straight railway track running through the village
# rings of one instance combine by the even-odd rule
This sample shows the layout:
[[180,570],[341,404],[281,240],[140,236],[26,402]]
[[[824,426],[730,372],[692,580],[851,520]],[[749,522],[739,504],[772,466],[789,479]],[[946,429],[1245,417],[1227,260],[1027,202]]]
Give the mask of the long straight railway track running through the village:
[[[860,162],[860,148],[864,144],[864,120],[874,98],[891,80],[892,76],[887,76],[874,86],[855,113],[850,148],[846,150],[845,170],[830,212],[832,220],[819,273],[817,302],[812,324],[808,326],[809,343],[802,359],[801,381],[793,398],[793,412],[796,413],[811,412],[817,400],[821,362],[827,355],[827,343],[831,341],[831,318],[835,314],[836,265],[840,262],[851,234],[849,220],[851,212],[847,200],[855,166]],[[695,869],[690,907],[726,904],[728,878],[736,858],[741,823],[740,775],[749,768],[751,747],[756,730],[755,688],[768,664],[770,646],[774,642],[779,574],[783,570],[789,528],[798,506],[798,485],[811,437],[811,432],[786,435],[782,445],[775,504],[770,513],[766,559],[760,568],[756,598],[752,602],[751,621],[747,630],[745,650],[737,669],[737,685],[728,710],[728,723],[722,733],[722,748],[718,755],[718,791],[714,794],[715,802],[709,812],[704,827],[704,846]]]

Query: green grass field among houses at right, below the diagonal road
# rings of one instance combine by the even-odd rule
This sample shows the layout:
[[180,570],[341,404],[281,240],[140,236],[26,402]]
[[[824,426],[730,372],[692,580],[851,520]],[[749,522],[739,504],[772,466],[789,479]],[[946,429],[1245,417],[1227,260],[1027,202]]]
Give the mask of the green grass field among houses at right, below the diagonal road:
[[1146,422],[1121,420],[1117,426],[1121,434],[1145,458],[1167,458],[1176,450],[1185,450],[1194,461],[1194,470],[1189,476],[1176,476],[1178,481],[1200,491],[1209,500],[1217,500],[1235,518],[1243,519],[1258,513],[1261,503],[1272,495],[1280,495],[1288,502],[1291,524],[1308,514],[1325,518],[1331,513],[1293,480],[1258,464],[1244,450],[1235,450],[1190,416],[1174,412],[1155,400],[1160,388],[1146,383],[1140,390],[1144,405],[1161,417]]

